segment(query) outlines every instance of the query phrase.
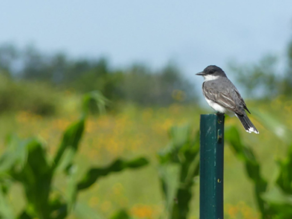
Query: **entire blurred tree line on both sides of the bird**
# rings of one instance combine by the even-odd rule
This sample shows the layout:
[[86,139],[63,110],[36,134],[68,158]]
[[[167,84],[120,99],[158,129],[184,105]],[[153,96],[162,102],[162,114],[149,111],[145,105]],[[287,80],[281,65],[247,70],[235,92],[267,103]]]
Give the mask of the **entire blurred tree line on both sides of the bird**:
[[[281,60],[282,59],[282,60]],[[230,63],[240,90],[252,99],[268,100],[279,95],[291,98],[292,40],[285,59],[266,55],[255,63]],[[168,63],[159,70],[144,64],[114,69],[105,58],[71,58],[64,53],[45,54],[34,46],[19,49],[0,45],[0,112],[30,110],[54,113],[59,91],[101,91],[112,103],[167,106],[174,102],[196,103],[195,86],[180,69]]]

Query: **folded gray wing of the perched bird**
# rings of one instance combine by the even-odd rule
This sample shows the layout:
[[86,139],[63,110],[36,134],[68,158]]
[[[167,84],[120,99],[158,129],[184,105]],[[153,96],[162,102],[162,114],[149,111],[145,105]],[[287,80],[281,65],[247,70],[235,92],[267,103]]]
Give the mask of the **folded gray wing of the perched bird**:
[[248,112],[249,110],[236,87],[231,81],[227,80],[219,81],[220,83],[214,83],[213,81],[204,82],[203,93],[208,99],[214,101],[220,106],[239,115],[244,115],[244,109]]

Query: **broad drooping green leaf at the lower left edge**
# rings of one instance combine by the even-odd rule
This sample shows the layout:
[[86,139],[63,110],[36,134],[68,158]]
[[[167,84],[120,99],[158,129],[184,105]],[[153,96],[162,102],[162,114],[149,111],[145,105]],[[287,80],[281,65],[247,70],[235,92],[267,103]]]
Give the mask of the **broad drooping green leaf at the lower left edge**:
[[[8,155],[13,162],[6,162],[6,159],[9,159]],[[46,151],[42,143],[36,138],[21,141],[15,136],[11,136],[8,140],[8,149],[1,161],[5,166],[3,169],[8,171],[10,177],[22,183],[30,213],[32,215],[39,214],[40,217],[48,214],[47,201],[52,175],[51,166],[47,161]],[[1,192],[5,191],[2,189],[3,186],[5,187],[5,184],[2,184]],[[29,218],[31,216],[25,211],[19,217]]]

